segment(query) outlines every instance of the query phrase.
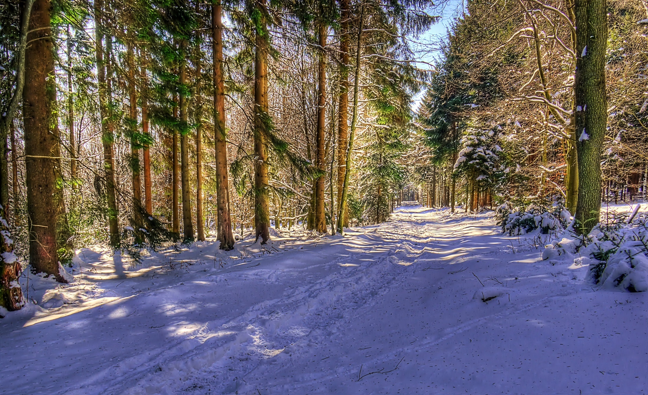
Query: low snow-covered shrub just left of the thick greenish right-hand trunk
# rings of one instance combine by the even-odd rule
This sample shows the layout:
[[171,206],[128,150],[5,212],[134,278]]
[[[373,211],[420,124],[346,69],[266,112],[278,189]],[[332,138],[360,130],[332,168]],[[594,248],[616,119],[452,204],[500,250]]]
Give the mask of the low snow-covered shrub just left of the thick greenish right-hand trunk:
[[570,222],[569,212],[562,205],[542,207],[531,204],[526,209],[511,209],[503,203],[495,210],[495,218],[502,227],[503,234],[518,236],[540,229],[542,234],[555,234],[564,231]]

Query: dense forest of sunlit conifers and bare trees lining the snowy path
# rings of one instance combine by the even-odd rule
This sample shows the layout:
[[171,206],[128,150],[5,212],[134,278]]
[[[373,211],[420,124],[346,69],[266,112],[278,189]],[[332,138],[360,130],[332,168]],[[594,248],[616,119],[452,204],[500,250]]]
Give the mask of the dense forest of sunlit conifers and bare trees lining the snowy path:
[[645,198],[645,3],[471,0],[428,62],[438,6],[3,2],[0,304],[97,243],[231,250],[403,200],[564,207],[588,234]]

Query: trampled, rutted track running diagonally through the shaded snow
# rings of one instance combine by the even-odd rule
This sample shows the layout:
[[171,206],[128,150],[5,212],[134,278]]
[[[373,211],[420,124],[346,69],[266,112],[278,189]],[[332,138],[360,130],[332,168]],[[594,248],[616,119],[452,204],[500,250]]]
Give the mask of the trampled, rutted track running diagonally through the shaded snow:
[[[385,242],[395,243],[399,240],[382,234],[400,234],[398,229],[389,228],[381,228],[380,232],[376,232],[381,234],[382,240],[377,240],[380,243],[373,248],[384,249]],[[354,267],[352,271],[332,273],[308,286],[287,291],[281,299],[257,304],[243,315],[220,326],[220,330],[238,331],[234,341],[209,350],[202,350],[205,346],[196,347],[196,350],[157,364],[154,369],[157,372],[149,371],[145,378],[138,380],[125,393],[174,393],[173,390],[182,387],[182,384],[189,384],[192,376],[196,376],[197,381],[201,381],[200,376],[210,376],[208,380],[211,388],[216,387],[222,393],[235,392],[243,385],[244,377],[269,359],[281,357],[282,353],[294,352],[304,345],[302,343],[306,342],[305,339],[310,343],[337,332],[336,327],[343,324],[340,320],[348,316],[344,314],[345,311],[372,304],[376,297],[384,295],[411,275],[411,269],[399,265],[402,262],[398,258],[399,254],[404,253],[404,258],[413,260],[424,251],[424,247],[410,251],[391,247],[380,253],[380,258]],[[368,254],[351,254],[338,258],[329,265],[338,264],[341,260],[357,262],[358,258],[366,255]],[[397,258],[393,259],[395,256]],[[387,281],[376,282],[376,278],[386,278]],[[246,363],[240,364],[237,361]],[[213,374],[214,371],[217,374]],[[163,375],[166,377],[161,378]]]

